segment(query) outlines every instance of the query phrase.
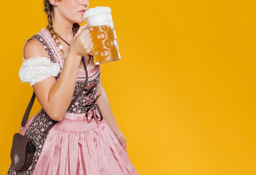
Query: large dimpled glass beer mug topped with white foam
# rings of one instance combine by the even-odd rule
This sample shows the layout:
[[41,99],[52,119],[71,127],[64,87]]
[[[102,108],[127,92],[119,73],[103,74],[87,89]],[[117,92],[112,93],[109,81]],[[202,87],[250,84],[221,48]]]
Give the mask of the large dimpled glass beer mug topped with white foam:
[[121,59],[117,36],[109,7],[90,8],[83,15],[94,44],[91,55],[94,64],[109,63]]

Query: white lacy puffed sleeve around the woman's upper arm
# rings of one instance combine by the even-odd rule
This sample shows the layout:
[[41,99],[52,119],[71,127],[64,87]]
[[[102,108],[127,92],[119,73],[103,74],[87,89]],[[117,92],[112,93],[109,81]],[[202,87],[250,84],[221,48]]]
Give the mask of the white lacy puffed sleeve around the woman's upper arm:
[[19,77],[21,82],[28,82],[32,86],[47,77],[56,77],[59,71],[60,66],[57,63],[51,63],[46,57],[36,57],[23,59]]

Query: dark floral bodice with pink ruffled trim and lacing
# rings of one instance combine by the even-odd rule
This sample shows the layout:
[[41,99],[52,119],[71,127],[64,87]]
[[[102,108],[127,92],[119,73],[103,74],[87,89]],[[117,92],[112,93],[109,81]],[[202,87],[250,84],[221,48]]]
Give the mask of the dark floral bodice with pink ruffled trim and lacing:
[[[61,74],[61,71],[65,63],[65,59],[63,58],[61,54],[61,50],[59,49],[58,45],[54,41],[52,35],[50,35],[44,28],[42,28],[42,30],[38,32],[36,35],[34,35],[33,37],[31,37],[31,39],[38,40],[45,48],[51,62],[58,63],[58,65],[61,67],[60,72],[56,76],[56,80],[58,81],[58,78]],[[88,112],[89,105],[91,105],[94,99],[96,98],[97,85],[99,83],[99,78],[100,78],[100,66],[94,65],[93,60],[91,60],[90,64],[87,66],[87,71],[88,71],[88,82],[86,86],[94,85],[94,83],[95,85],[86,96],[85,96],[85,93],[88,91],[88,89],[90,89],[90,87],[85,88],[85,90],[83,90],[82,94],[77,98],[75,103],[72,104],[67,110],[67,112],[69,113]],[[76,94],[80,92],[85,82],[85,78],[86,78],[85,70],[79,69],[73,98],[76,96]]]

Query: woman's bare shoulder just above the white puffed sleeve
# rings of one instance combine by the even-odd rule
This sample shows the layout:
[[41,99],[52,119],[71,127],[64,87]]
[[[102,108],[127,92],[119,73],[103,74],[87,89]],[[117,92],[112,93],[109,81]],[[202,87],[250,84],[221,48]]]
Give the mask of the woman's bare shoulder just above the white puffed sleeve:
[[23,50],[24,59],[36,58],[36,57],[47,57],[48,55],[45,48],[36,39],[30,39],[26,42]]

